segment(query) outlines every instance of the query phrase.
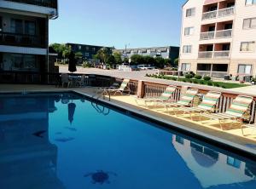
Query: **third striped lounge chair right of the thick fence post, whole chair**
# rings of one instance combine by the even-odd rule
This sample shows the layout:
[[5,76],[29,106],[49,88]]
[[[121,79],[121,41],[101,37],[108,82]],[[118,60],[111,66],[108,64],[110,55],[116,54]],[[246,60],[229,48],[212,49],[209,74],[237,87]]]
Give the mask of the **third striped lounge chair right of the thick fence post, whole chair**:
[[193,119],[193,113],[202,113],[202,112],[215,112],[217,110],[218,101],[221,97],[221,92],[210,91],[208,92],[201,104],[196,107],[181,107],[177,108],[175,112],[183,112],[183,114],[179,115],[181,117],[187,116],[189,114],[191,120]]

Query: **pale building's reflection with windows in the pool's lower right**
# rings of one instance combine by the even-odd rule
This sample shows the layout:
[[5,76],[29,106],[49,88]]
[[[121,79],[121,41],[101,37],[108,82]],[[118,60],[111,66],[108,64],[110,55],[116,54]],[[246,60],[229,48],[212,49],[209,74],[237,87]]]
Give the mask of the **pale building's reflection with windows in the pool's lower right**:
[[178,135],[172,136],[172,144],[204,188],[255,179],[256,165],[253,163],[245,163],[215,152],[207,146],[183,139]]

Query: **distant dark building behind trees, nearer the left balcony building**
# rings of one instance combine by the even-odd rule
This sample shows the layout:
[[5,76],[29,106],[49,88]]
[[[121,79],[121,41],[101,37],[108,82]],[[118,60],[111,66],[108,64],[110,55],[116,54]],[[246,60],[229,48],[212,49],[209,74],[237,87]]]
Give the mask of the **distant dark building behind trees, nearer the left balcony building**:
[[96,45],[89,45],[89,44],[77,44],[77,43],[66,43],[67,46],[70,46],[73,52],[75,53],[82,53],[84,59],[92,60],[93,56],[97,54],[97,52],[102,48],[107,48],[109,53],[111,53],[110,47],[103,47],[103,46],[96,46]]

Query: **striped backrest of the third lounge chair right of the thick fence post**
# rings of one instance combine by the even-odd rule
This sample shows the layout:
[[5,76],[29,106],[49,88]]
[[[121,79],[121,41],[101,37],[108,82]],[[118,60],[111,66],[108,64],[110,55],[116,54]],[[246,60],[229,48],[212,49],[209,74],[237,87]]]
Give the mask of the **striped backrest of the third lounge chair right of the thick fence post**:
[[204,110],[212,110],[212,108],[217,106],[220,96],[220,92],[211,91],[206,94],[206,96],[203,98],[201,104],[198,107]]

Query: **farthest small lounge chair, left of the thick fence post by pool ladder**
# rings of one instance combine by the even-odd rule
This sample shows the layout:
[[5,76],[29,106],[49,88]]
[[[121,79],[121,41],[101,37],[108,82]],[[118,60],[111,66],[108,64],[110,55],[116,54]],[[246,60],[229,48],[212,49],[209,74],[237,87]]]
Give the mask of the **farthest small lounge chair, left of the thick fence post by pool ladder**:
[[116,94],[130,94],[131,93],[131,89],[129,88],[129,82],[130,79],[124,79],[123,82],[121,83],[120,87],[118,89],[113,89],[113,88],[105,88],[102,89],[102,95],[116,95]]

